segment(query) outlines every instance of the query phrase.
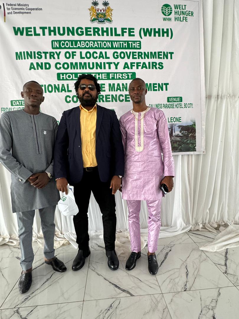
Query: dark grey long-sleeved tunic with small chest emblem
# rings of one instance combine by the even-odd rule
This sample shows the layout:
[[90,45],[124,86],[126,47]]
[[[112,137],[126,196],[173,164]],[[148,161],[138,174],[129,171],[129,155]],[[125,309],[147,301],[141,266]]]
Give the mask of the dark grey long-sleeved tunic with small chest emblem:
[[0,119],[0,162],[11,172],[12,211],[56,205],[60,199],[54,178],[37,189],[28,182],[35,173],[53,174],[58,124],[50,115],[24,110],[3,113]]

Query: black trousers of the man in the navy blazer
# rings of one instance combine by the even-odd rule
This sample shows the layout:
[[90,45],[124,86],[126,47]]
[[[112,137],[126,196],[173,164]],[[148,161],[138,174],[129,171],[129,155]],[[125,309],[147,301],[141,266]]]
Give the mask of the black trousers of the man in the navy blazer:
[[112,195],[109,182],[101,182],[97,167],[87,172],[84,169],[82,180],[73,185],[76,204],[79,208],[78,214],[73,217],[76,231],[76,243],[79,249],[88,251],[88,207],[91,191],[99,205],[102,213],[105,250],[115,249],[116,214],[115,198]]

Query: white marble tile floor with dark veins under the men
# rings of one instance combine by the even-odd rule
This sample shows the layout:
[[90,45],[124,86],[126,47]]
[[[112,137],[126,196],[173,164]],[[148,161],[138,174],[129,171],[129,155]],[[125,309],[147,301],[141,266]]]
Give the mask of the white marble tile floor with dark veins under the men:
[[107,267],[104,243],[92,241],[84,267],[72,271],[77,250],[64,245],[56,256],[67,266],[53,271],[33,243],[33,284],[18,291],[19,246],[0,246],[0,319],[238,319],[239,247],[221,252],[199,249],[216,234],[193,231],[159,238],[156,276],[148,272],[147,247],[132,271],[120,261]]

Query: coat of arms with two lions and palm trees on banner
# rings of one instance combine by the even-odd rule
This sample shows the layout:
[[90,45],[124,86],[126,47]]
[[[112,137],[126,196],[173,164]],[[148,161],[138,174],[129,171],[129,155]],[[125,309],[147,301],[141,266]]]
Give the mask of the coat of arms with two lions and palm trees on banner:
[[97,8],[99,5],[98,1],[92,1],[91,7],[88,9],[90,11],[90,21],[91,23],[112,23],[112,11],[108,1],[103,1],[102,5],[105,8]]

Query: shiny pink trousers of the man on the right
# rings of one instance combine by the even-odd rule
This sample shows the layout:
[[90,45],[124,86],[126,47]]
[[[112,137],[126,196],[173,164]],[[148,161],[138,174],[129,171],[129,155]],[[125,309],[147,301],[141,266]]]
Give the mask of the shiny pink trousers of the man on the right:
[[[160,208],[161,198],[159,200],[147,200],[148,206],[148,251],[154,253],[158,246],[158,236],[160,232],[161,219]],[[140,200],[127,200],[129,211],[128,223],[131,242],[131,251],[141,251],[140,238]]]

